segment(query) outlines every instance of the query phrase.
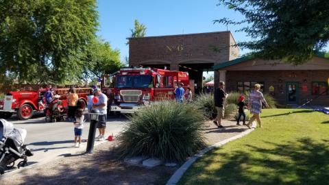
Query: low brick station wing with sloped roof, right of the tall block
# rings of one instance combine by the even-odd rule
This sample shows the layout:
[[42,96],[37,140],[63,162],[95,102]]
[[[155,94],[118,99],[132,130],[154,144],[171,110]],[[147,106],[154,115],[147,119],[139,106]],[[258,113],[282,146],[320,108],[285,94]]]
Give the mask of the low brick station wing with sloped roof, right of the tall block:
[[269,93],[281,104],[329,105],[329,58],[319,53],[306,64],[294,66],[278,60],[263,60],[246,56],[221,64],[214,69],[226,90],[245,92],[260,84],[263,93]]

